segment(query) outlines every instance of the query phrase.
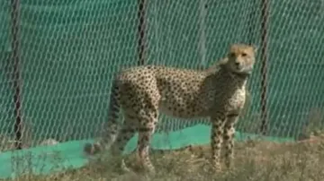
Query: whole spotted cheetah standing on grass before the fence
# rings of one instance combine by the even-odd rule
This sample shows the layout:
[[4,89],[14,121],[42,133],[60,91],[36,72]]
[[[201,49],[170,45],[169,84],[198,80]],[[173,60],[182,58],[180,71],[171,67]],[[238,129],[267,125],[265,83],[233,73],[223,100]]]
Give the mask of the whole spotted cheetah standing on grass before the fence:
[[[112,82],[110,116],[103,137],[94,144],[85,144],[85,151],[94,154],[110,148],[112,155],[121,155],[126,143],[138,132],[139,163],[155,172],[148,147],[158,114],[187,120],[204,117],[211,122],[211,168],[221,169],[221,144],[225,148],[225,165],[230,168],[234,125],[246,101],[247,79],[256,54],[257,47],[237,43],[229,46],[228,55],[218,64],[205,70],[162,65],[121,70]],[[124,116],[122,125],[117,120],[120,110]]]

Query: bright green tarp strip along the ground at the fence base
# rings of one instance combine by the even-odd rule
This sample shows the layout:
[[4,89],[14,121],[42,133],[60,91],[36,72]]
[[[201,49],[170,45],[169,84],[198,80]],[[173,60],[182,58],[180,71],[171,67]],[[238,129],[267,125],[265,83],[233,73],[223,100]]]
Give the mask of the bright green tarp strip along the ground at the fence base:
[[[199,133],[199,134],[198,134]],[[255,139],[255,134],[236,135],[237,141]],[[182,131],[169,134],[155,134],[152,139],[152,148],[157,150],[175,150],[188,145],[208,144],[210,139],[210,126],[196,125]],[[292,139],[264,137],[273,142],[290,142]],[[83,153],[86,141],[73,141],[59,143],[55,146],[36,147],[25,151],[8,151],[0,154],[0,178],[16,177],[23,172],[34,174],[50,174],[67,168],[80,168],[85,166],[87,158]],[[137,135],[126,145],[124,153],[130,153],[136,148]]]

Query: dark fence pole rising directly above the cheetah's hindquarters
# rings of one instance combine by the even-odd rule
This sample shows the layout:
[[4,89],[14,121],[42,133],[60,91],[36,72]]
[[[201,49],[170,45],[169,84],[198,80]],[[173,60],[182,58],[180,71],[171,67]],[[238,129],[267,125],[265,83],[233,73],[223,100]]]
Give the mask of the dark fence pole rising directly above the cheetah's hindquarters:
[[145,32],[146,32],[146,21],[145,21],[145,15],[146,15],[146,6],[147,2],[146,0],[138,0],[139,4],[139,10],[138,10],[138,18],[139,18],[139,65],[145,64]]

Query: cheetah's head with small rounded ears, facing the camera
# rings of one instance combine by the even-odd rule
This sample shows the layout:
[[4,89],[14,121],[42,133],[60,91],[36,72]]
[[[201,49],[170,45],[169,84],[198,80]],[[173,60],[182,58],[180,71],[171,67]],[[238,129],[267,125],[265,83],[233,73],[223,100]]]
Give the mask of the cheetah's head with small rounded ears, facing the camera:
[[228,67],[233,73],[248,75],[256,62],[257,47],[247,44],[232,44],[229,47]]

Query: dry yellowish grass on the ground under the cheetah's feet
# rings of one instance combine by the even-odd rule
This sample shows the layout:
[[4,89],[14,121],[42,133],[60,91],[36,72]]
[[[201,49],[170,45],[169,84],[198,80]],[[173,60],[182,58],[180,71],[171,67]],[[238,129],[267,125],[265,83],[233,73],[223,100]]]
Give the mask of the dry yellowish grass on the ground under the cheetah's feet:
[[96,160],[80,169],[47,177],[24,176],[19,180],[219,180],[219,181],[321,181],[324,178],[324,139],[296,143],[239,142],[235,167],[220,174],[208,171],[209,146],[187,147],[179,151],[153,151],[155,177],[144,177],[130,155],[127,164],[136,173],[120,174],[113,169],[116,161]]

